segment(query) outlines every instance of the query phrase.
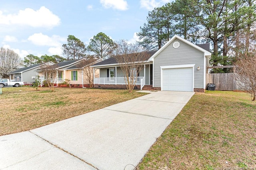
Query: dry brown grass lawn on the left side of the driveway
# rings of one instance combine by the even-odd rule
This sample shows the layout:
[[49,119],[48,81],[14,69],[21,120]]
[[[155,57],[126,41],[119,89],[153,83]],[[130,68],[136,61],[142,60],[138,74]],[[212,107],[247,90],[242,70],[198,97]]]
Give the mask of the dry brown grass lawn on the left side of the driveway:
[[27,131],[143,96],[127,90],[2,88],[0,135]]

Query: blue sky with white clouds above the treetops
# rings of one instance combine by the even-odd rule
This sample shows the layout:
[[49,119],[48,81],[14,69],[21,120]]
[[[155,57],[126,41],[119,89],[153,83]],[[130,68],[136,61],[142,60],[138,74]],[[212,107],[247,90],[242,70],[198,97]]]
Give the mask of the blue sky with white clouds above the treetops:
[[138,40],[148,12],[172,0],[0,0],[1,47],[62,56],[68,35],[86,45],[99,32],[115,41]]

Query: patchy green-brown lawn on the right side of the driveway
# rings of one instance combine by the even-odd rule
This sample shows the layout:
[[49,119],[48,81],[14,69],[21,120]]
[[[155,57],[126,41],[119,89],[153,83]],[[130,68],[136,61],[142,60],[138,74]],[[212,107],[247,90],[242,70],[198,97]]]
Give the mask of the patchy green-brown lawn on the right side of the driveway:
[[256,169],[256,102],[250,100],[243,92],[196,93],[137,168]]

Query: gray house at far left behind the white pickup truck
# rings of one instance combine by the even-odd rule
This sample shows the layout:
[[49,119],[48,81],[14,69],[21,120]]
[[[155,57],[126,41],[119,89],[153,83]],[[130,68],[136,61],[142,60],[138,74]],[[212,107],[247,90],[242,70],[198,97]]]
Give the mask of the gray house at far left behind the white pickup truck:
[[20,68],[18,70],[9,72],[10,81],[24,82],[24,84],[32,84],[36,80],[38,68],[46,64],[54,64],[53,62],[34,64],[32,66]]

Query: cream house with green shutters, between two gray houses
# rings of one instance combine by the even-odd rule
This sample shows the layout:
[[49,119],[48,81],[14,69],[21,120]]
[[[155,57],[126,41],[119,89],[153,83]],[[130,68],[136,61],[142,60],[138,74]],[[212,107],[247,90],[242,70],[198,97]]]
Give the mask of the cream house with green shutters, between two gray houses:
[[[89,83],[86,81],[87,78],[83,72],[83,68],[88,66],[83,64],[85,63],[85,60],[86,59],[69,60],[52,65],[51,68],[54,68],[54,70],[56,70],[57,75],[52,76],[52,78],[56,78],[56,86],[63,83],[65,79],[70,80],[71,85],[76,85],[78,87],[87,86]],[[102,61],[102,59],[94,61],[93,63],[97,63],[100,61]],[[37,70],[37,72],[41,80],[44,80],[48,76],[47,71]],[[95,70],[95,74],[97,72],[98,71]]]

